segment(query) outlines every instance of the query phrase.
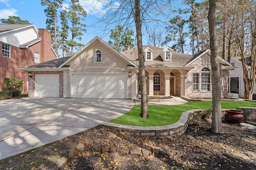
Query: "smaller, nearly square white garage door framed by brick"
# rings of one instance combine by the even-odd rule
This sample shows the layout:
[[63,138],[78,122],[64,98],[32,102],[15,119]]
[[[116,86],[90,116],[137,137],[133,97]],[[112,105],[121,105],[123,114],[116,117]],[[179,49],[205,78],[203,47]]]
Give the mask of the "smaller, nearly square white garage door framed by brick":
[[59,74],[36,74],[35,97],[59,97]]

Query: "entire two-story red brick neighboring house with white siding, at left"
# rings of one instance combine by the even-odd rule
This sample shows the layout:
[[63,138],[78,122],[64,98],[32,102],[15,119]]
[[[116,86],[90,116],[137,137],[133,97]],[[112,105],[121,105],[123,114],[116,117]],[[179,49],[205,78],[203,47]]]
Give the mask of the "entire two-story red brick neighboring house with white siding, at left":
[[51,34],[33,24],[0,24],[0,91],[6,77],[23,80],[21,91],[28,91],[28,73],[18,70],[57,58],[51,47]]

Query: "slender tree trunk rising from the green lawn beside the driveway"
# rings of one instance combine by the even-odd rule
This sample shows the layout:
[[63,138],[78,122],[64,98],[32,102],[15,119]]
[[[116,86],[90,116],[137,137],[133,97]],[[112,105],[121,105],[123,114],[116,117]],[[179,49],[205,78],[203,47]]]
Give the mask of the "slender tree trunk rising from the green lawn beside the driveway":
[[136,37],[137,37],[137,48],[139,58],[139,74],[140,74],[140,87],[141,87],[141,110],[140,116],[142,118],[148,118],[148,99],[147,99],[147,82],[145,77],[144,68],[144,55],[142,48],[142,33],[141,33],[141,21],[140,21],[140,0],[135,0],[135,25],[136,25]]

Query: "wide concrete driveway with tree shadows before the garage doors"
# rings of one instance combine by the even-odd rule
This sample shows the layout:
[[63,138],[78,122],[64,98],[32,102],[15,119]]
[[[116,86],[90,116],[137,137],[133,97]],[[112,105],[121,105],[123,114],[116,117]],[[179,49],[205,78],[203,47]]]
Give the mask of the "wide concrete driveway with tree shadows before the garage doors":
[[0,101],[0,160],[95,127],[133,100],[22,98]]

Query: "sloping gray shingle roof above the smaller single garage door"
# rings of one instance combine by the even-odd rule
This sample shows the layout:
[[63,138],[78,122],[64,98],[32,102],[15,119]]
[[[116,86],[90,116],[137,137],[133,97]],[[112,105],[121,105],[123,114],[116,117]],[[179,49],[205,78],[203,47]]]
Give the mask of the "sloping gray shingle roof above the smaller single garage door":
[[62,63],[67,61],[70,57],[62,57],[62,58],[59,58],[59,59],[46,61],[44,63],[39,63],[39,64],[35,64],[35,65],[32,65],[32,66],[27,66],[27,67],[24,67],[24,68],[58,68]]

